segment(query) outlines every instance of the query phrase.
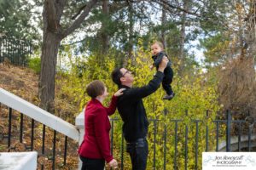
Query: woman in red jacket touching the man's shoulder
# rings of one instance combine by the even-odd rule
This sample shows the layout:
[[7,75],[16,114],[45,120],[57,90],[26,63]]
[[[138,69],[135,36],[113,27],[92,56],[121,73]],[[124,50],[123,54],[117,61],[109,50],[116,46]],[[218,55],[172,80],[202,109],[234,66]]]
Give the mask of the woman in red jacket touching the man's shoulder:
[[82,170],[103,170],[105,161],[110,167],[117,167],[118,163],[110,152],[109,130],[111,128],[108,116],[116,110],[117,97],[122,94],[119,89],[113,94],[109,107],[102,105],[108,96],[104,83],[96,80],[86,87],[86,93],[91,100],[84,111],[84,140],[79,147],[79,156],[83,161]]

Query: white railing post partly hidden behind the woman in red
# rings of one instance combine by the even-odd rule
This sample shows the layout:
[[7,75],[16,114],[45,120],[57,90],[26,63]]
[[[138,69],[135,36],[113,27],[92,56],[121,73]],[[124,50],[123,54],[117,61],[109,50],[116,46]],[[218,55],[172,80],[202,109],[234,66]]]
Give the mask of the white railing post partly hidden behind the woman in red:
[[[79,145],[84,139],[84,110],[76,117],[76,127],[79,129]],[[82,161],[79,159],[79,169],[82,167]]]

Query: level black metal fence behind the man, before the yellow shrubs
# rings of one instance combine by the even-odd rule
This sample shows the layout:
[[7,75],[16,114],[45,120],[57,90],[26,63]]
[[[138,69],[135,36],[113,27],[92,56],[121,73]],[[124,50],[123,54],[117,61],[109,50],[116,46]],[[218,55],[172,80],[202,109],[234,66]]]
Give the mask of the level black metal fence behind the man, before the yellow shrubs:
[[[256,120],[252,116],[234,120],[227,111],[226,119],[212,120],[206,111],[204,120],[192,119],[185,113],[183,119],[151,119],[149,122],[147,169],[201,169],[203,151],[255,151],[256,139],[252,136]],[[123,135],[114,133],[120,132],[119,123],[119,119],[111,119],[111,151],[120,160],[120,169],[131,169]],[[237,132],[234,133],[234,129]],[[237,140],[231,142],[235,136]],[[247,136],[247,140],[241,141],[242,136]],[[118,153],[114,153],[115,150],[119,150]]]

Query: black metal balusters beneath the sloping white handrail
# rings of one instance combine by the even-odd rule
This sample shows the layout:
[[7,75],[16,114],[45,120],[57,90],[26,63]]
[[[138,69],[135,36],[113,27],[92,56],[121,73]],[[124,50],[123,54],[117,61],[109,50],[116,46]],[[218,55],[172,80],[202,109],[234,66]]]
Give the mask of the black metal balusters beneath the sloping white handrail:
[[36,150],[38,169],[78,167],[78,143],[73,139],[1,103],[0,117],[0,152]]

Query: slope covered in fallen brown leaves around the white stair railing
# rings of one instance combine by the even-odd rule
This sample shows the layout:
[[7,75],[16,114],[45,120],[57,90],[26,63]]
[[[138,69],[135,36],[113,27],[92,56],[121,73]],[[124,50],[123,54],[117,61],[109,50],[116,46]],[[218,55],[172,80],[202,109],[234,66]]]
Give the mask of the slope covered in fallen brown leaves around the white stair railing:
[[[12,94],[19,96],[31,102],[33,105],[39,105],[38,99],[38,75],[29,68],[20,67],[15,65],[3,65],[0,64],[0,88],[9,91]],[[57,85],[56,85],[57,87]],[[58,90],[56,89],[56,93]],[[65,96],[65,95],[58,95]],[[78,115],[79,106],[70,105],[70,99],[55,99],[55,115],[61,116],[62,119],[74,124],[75,116]],[[8,134],[8,108],[4,105],[0,105],[0,130],[5,135]],[[23,144],[19,142],[20,130],[20,113],[13,111],[12,116],[12,139],[11,147],[15,147],[15,144],[19,147],[10,149],[10,151],[24,151],[22,146],[31,144],[31,119],[29,117],[24,118],[24,133],[23,133]],[[41,154],[42,150],[42,124],[35,122],[34,129],[34,149],[38,150],[38,154]],[[7,147],[7,139],[2,139],[3,135],[0,135],[0,152],[9,150]],[[51,129],[46,128],[46,139],[45,139],[45,156],[41,156],[41,161],[45,162],[44,169],[51,168],[51,162],[49,161],[52,155],[52,141],[53,132]],[[56,169],[76,169],[78,166],[78,143],[68,140],[67,144],[67,165],[63,165],[64,155],[64,137],[61,134],[57,134],[56,137]],[[29,149],[26,149],[29,151]],[[43,159],[42,159],[43,158]],[[46,160],[46,161],[45,161]],[[48,160],[48,161],[47,161]],[[38,163],[39,165],[39,163]]]

